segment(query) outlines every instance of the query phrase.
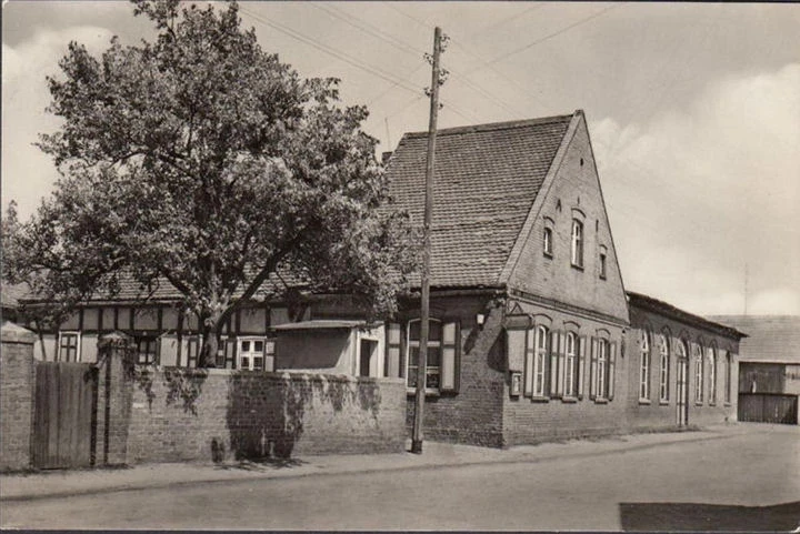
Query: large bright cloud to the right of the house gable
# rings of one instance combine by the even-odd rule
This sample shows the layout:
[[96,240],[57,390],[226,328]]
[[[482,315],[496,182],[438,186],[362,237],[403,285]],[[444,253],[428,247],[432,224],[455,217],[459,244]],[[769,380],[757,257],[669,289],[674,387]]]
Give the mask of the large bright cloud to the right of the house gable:
[[747,265],[759,313],[800,313],[800,64],[591,134],[627,286],[740,313]]

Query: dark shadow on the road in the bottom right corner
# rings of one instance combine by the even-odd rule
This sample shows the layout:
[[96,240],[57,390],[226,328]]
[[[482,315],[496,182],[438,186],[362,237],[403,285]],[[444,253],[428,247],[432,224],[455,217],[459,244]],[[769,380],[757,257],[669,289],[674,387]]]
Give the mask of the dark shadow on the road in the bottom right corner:
[[774,506],[702,503],[620,503],[623,531],[792,532],[800,501]]

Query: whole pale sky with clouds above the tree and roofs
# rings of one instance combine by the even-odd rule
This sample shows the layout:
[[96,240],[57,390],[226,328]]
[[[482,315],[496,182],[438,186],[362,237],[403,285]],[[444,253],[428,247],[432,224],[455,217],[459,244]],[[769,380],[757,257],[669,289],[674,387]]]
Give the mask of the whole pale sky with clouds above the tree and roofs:
[[[58,174],[46,75],[71,40],[99,53],[151,23],[113,1],[4,1],[2,205],[21,218]],[[341,79],[379,151],[428,128],[582,109],[627,290],[692,313],[800,314],[800,4],[241,2],[243,26],[303,77]]]

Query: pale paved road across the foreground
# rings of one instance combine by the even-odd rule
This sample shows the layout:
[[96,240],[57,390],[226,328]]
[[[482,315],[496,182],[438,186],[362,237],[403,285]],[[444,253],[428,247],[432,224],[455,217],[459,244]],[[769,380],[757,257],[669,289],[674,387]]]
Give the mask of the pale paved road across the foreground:
[[593,457],[226,481],[4,502],[2,526],[751,531],[800,526],[800,427],[753,429],[719,440]]

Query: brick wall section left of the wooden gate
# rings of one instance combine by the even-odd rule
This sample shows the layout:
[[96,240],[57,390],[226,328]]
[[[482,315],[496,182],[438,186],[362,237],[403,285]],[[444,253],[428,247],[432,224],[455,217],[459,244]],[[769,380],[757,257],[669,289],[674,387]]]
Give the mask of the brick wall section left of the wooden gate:
[[6,322],[0,349],[0,471],[30,467],[33,416],[32,332]]

